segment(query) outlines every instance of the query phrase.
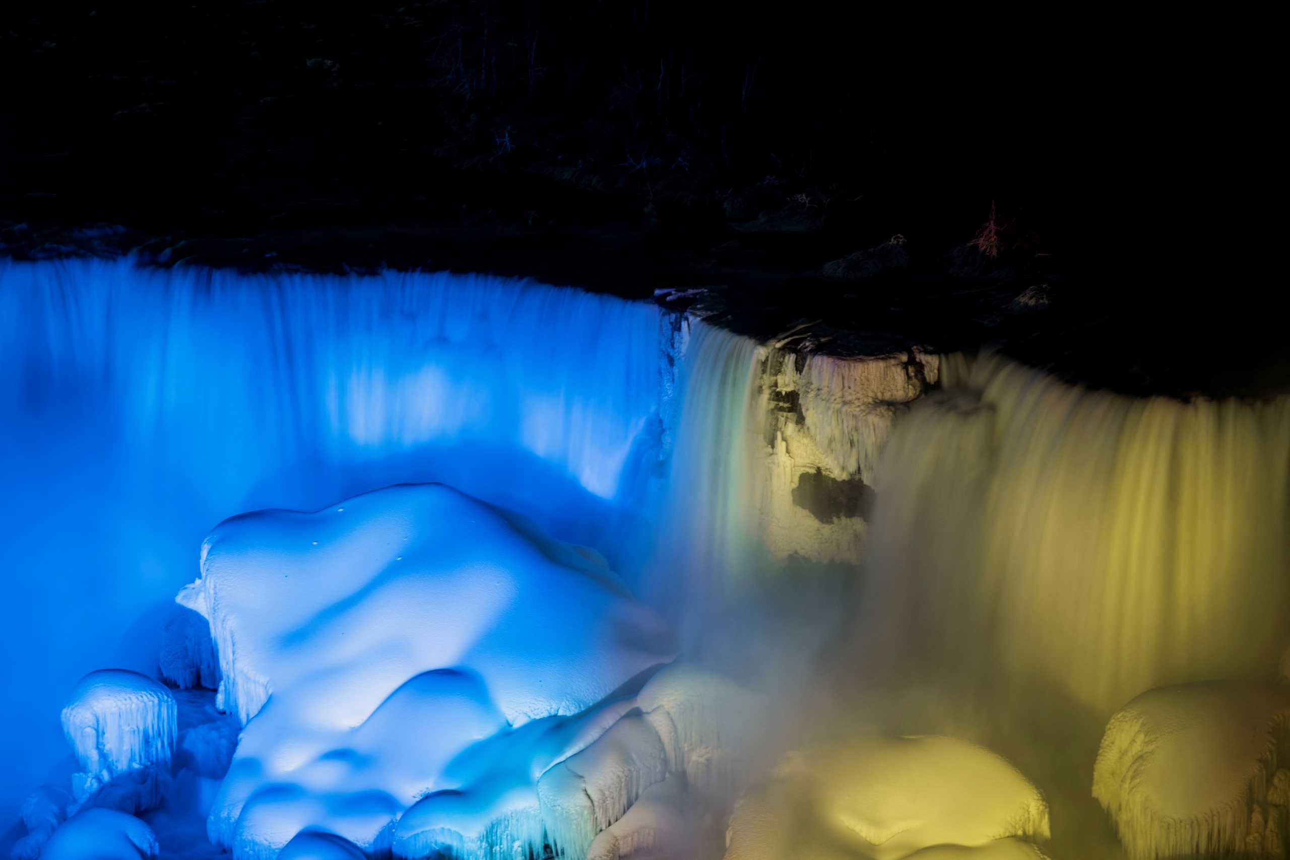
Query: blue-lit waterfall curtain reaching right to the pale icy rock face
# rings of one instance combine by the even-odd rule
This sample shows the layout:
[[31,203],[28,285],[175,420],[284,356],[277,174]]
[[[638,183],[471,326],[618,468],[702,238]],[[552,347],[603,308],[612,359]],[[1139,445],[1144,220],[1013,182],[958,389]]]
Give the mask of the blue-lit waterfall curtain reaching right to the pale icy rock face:
[[721,422],[748,407],[743,338],[704,329],[680,356],[654,304],[486,276],[85,260],[0,263],[0,636],[26,655],[3,679],[23,700],[6,811],[63,754],[49,714],[80,676],[154,670],[159,618],[228,516],[442,481],[628,579],[725,563],[738,516],[704,523],[735,496],[744,427]]

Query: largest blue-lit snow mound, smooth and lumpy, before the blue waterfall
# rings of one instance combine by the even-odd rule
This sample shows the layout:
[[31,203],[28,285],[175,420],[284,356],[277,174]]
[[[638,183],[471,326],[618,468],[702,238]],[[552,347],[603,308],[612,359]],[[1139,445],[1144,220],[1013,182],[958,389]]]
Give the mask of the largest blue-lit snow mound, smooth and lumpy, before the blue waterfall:
[[228,520],[178,600],[209,620],[244,723],[208,821],[235,857],[307,828],[409,856],[436,828],[541,848],[541,775],[671,659],[593,557],[442,485]]

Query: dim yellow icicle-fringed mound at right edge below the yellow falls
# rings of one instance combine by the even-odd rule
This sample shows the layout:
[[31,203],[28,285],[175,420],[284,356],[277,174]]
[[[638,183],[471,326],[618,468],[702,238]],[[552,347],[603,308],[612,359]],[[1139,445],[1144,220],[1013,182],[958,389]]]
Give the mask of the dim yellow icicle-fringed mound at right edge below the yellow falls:
[[1102,738],[1093,796],[1134,860],[1285,851],[1290,690],[1206,682],[1125,705]]

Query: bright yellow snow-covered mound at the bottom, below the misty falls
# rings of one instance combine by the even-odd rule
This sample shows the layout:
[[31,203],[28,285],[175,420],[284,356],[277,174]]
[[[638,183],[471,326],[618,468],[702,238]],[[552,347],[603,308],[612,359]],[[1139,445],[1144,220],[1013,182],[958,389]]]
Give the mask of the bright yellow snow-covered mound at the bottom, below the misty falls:
[[1007,837],[1047,839],[1049,816],[1006,761],[953,738],[869,736],[789,753],[735,807],[726,860],[811,851],[903,860],[933,846],[997,848]]

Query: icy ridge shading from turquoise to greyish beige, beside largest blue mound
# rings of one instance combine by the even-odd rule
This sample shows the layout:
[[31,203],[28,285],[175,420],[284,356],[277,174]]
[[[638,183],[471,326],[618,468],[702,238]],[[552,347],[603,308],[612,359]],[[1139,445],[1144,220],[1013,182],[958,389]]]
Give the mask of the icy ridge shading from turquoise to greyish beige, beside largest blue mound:
[[725,708],[757,704],[716,674],[671,664],[635,696],[502,731],[445,770],[468,788],[427,794],[402,815],[393,854],[526,860],[546,843],[568,860],[685,859],[694,811],[728,803],[719,789],[738,772],[716,745],[756,759],[739,745],[751,739],[748,714]]

